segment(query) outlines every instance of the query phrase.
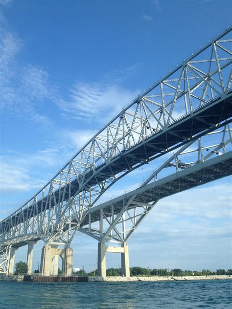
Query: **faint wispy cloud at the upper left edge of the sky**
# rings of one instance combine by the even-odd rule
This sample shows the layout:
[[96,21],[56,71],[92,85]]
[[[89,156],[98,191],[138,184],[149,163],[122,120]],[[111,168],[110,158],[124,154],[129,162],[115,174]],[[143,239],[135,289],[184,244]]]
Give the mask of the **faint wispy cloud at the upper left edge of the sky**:
[[21,66],[17,56],[23,42],[15,34],[1,29],[0,39],[0,112],[30,116],[33,123],[47,122],[39,103],[53,95],[48,73],[39,66]]

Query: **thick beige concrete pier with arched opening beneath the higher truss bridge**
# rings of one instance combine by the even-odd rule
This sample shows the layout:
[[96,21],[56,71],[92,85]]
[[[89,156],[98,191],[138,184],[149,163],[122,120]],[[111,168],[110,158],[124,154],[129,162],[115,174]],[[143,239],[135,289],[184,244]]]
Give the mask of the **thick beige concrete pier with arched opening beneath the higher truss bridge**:
[[57,275],[59,256],[62,259],[62,274],[72,273],[72,248],[60,249],[57,245],[46,244],[42,248],[40,272],[45,275]]

